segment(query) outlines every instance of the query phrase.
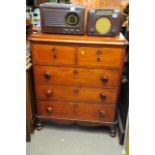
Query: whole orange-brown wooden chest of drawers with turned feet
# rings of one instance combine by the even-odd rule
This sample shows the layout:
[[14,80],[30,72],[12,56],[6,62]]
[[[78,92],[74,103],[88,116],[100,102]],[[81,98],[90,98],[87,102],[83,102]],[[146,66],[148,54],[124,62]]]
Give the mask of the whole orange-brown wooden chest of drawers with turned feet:
[[30,40],[38,129],[44,120],[107,125],[114,136],[124,37],[36,33]]

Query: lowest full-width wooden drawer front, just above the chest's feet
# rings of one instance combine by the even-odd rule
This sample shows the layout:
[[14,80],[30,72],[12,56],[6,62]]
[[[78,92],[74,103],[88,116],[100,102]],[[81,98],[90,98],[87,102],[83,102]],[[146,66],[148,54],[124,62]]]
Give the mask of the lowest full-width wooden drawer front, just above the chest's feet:
[[40,116],[85,121],[113,122],[115,106],[73,103],[73,102],[38,102]]

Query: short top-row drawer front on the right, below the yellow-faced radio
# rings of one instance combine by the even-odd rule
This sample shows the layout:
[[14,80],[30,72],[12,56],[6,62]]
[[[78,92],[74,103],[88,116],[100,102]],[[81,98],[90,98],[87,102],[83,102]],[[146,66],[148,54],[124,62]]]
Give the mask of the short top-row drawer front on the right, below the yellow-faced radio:
[[120,68],[122,48],[78,48],[78,65]]

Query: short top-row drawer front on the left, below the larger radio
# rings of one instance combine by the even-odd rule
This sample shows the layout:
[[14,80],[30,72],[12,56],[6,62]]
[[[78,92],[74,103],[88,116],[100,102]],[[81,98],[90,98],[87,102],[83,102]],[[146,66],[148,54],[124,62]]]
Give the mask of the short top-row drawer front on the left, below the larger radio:
[[34,44],[33,62],[40,65],[73,65],[75,63],[75,48]]

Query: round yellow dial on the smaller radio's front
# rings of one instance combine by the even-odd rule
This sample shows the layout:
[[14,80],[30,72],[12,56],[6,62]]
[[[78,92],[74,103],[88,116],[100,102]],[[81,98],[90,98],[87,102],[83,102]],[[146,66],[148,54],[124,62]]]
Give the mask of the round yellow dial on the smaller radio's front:
[[111,29],[111,21],[107,17],[100,17],[97,19],[95,27],[99,33],[108,33]]

